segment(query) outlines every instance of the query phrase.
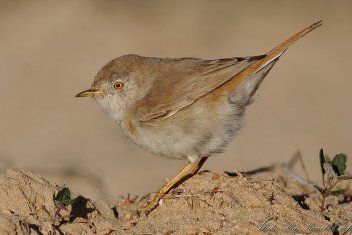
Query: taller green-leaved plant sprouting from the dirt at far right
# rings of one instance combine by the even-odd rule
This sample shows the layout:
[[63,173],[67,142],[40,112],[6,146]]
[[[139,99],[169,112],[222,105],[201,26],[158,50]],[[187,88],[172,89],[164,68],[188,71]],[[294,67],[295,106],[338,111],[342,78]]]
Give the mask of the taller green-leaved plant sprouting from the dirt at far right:
[[336,154],[335,157],[330,160],[330,158],[324,155],[324,150],[320,149],[319,153],[320,169],[322,173],[322,184],[323,187],[314,185],[316,189],[322,195],[321,200],[321,211],[325,210],[325,200],[328,196],[338,196],[345,193],[345,189],[335,189],[335,186],[343,181],[352,179],[351,175],[347,175],[346,170],[346,155]]

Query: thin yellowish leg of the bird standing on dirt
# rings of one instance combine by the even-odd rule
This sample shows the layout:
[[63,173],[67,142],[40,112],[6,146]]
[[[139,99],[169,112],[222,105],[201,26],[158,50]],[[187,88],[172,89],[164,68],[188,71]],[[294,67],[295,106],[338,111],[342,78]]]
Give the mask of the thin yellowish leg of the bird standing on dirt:
[[198,170],[202,167],[204,162],[208,159],[208,157],[202,157],[197,162],[190,162],[186,165],[170,182],[168,182],[164,187],[162,187],[159,192],[155,194],[153,199],[148,203],[147,206],[139,208],[138,213],[145,213],[148,214],[151,212],[155,207],[158,206],[159,200],[174,186],[179,185],[180,183],[184,182],[188,178],[195,175]]

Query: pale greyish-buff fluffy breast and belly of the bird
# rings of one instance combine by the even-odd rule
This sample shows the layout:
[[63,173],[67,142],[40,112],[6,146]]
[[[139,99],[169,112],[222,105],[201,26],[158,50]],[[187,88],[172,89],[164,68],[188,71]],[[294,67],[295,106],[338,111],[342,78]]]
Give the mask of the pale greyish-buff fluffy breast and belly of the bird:
[[121,123],[123,132],[154,155],[184,159],[222,152],[241,124],[241,115],[227,97],[200,99],[173,116]]

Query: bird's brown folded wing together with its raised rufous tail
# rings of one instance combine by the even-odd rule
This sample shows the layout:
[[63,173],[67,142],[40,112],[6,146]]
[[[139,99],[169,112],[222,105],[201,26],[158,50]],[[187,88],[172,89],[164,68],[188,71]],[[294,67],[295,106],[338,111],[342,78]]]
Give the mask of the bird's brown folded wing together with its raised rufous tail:
[[[155,79],[156,83],[143,101],[136,105],[139,120],[147,122],[170,117],[222,85],[226,85],[226,89],[234,89],[250,75],[279,58],[297,40],[321,25],[322,21],[318,21],[306,27],[263,56],[210,61],[198,59],[193,61],[195,64],[193,72],[192,70],[187,72],[189,70],[185,66],[176,70],[171,69],[170,76],[160,76],[159,79]],[[232,79],[234,77],[236,79]]]

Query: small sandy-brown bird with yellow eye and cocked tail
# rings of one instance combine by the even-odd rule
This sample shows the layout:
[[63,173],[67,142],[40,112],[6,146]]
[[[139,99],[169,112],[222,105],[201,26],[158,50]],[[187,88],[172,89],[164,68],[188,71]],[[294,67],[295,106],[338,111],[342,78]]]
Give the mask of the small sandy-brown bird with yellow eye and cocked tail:
[[91,88],[76,97],[93,97],[130,140],[151,154],[189,161],[139,212],[148,214],[209,156],[224,151],[280,56],[321,25],[316,22],[259,56],[203,60],[124,55],[98,72]]

